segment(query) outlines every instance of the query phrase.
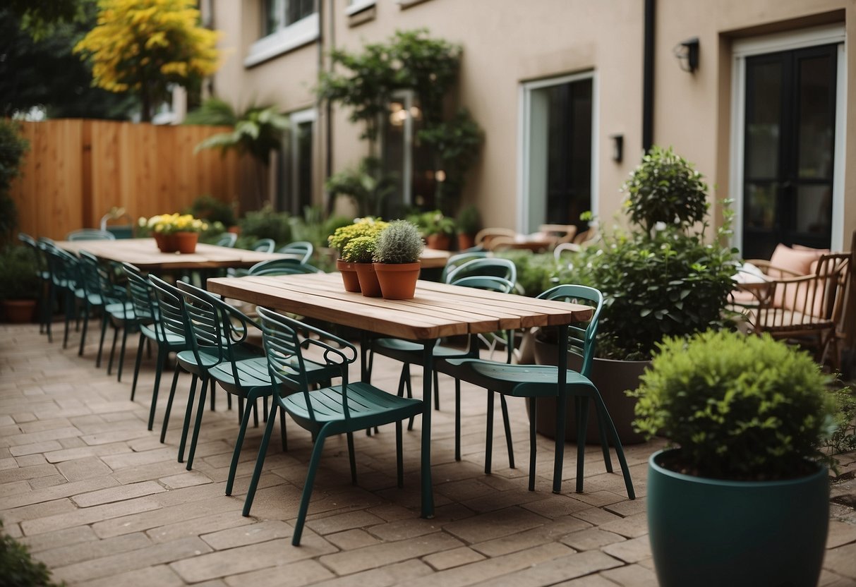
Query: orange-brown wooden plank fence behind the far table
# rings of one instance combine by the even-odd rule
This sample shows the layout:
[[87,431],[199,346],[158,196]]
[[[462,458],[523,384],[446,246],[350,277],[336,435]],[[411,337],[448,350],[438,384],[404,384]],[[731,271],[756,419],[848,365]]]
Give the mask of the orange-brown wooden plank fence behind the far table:
[[184,210],[203,194],[238,198],[235,154],[193,154],[223,127],[65,119],[24,122],[22,130],[30,150],[12,198],[19,230],[33,236],[58,240],[77,228],[98,228],[113,206],[135,221]]

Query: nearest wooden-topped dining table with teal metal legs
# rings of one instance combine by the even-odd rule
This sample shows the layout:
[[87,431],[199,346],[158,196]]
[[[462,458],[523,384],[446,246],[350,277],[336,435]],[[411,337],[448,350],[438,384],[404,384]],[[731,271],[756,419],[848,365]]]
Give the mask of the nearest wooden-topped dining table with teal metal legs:
[[[422,451],[431,462],[431,371],[432,349],[438,339],[455,335],[478,335],[500,329],[556,326],[559,349],[568,347],[568,323],[586,320],[592,309],[586,305],[526,298],[476,288],[463,288],[419,280],[413,299],[368,298],[344,291],[342,277],[335,273],[296,276],[215,277],[208,290],[228,298],[288,311],[359,329],[362,334],[362,375],[366,377],[368,333],[419,342],[424,347]],[[563,388],[567,378],[565,351],[558,352],[557,383]],[[558,404],[564,413],[564,394]],[[561,442],[557,452],[561,457]],[[556,459],[553,490],[561,489],[562,458]],[[422,517],[434,514],[431,470],[421,478]]]

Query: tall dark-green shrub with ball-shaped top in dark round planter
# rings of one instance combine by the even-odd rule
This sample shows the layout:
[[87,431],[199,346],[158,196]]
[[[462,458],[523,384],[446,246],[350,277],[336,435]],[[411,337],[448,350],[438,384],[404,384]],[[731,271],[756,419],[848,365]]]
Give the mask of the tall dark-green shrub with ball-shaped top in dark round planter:
[[[568,256],[568,273],[574,282],[603,294],[591,380],[603,395],[621,442],[630,444],[643,438],[633,431],[633,400],[624,391],[637,387],[663,337],[728,325],[737,251],[720,244],[729,234],[727,203],[722,228],[708,240],[707,184],[671,149],[652,147],[622,191],[627,194],[629,228],[615,229],[601,242]],[[550,348],[555,341],[549,335],[549,330],[536,335],[537,359],[555,360],[555,347]],[[573,353],[569,360],[568,366],[579,369]],[[569,441],[576,438],[573,413],[570,408]],[[539,421],[538,430],[550,436],[553,419]],[[588,442],[598,442],[597,419],[589,422]]]

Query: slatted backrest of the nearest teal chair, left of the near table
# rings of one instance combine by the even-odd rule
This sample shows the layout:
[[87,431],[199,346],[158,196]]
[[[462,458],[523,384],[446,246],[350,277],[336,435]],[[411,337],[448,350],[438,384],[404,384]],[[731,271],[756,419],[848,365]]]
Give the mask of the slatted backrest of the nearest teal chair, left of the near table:
[[[303,359],[303,348],[314,347],[315,351],[321,353],[326,365],[331,368],[338,366],[340,369],[340,372],[333,377],[342,377],[342,405],[345,409],[345,417],[348,418],[348,365],[357,359],[357,349],[354,345],[267,308],[259,306],[257,311],[262,321],[262,341],[265,345],[270,378],[286,388],[296,389],[304,394],[310,418],[315,419],[312,401],[309,399],[306,362]],[[338,347],[334,347],[330,342],[336,342]],[[274,395],[279,401],[282,398],[279,386],[274,387],[276,388]]]

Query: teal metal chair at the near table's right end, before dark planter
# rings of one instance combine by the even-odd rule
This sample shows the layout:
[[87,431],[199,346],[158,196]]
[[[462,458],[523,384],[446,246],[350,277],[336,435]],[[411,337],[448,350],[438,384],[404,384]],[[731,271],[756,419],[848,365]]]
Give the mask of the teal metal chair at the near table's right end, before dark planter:
[[[560,329],[559,347],[568,347],[568,352],[580,355],[582,368],[580,372],[568,370],[566,373],[565,390],[558,386],[559,368],[553,365],[508,365],[484,359],[443,359],[438,361],[437,369],[442,370],[456,379],[467,381],[479,387],[490,389],[504,395],[529,398],[529,489],[535,489],[535,450],[536,436],[535,423],[537,420],[537,402],[533,399],[538,397],[556,397],[556,458],[553,476],[553,492],[560,493],[562,490],[562,461],[565,442],[565,405],[568,397],[574,397],[577,418],[577,483],[576,490],[582,493],[583,472],[586,454],[586,424],[588,419],[588,402],[592,400],[597,413],[603,447],[603,460],[608,472],[612,472],[612,463],[609,459],[609,444],[606,435],[609,435],[615,446],[615,453],[621,464],[621,472],[624,476],[627,496],[635,499],[633,491],[633,480],[627,469],[627,460],[624,450],[621,448],[621,440],[615,431],[615,424],[609,417],[609,411],[603,403],[600,392],[594,383],[588,378],[591,372],[591,361],[594,359],[595,336],[597,335],[597,320],[603,306],[603,295],[594,288],[581,285],[560,285],[550,288],[538,299],[553,299],[574,302],[577,304],[591,305],[594,313],[587,323],[573,323],[567,329]],[[490,412],[488,417],[491,418]],[[490,445],[485,449],[485,459],[490,460]]]

